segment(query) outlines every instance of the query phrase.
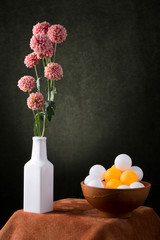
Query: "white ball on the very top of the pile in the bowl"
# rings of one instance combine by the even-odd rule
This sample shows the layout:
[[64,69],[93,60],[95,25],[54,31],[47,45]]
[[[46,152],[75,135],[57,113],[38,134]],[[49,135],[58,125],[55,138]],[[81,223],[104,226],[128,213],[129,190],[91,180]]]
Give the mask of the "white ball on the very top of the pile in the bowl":
[[128,170],[132,165],[132,160],[127,154],[120,154],[115,158],[114,164],[121,171]]

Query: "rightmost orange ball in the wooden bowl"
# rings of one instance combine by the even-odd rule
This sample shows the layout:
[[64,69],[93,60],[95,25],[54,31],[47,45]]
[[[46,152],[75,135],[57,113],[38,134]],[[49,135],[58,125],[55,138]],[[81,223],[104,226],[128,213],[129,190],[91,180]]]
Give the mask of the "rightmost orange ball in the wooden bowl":
[[126,184],[126,185],[129,186],[131,183],[137,182],[138,177],[137,177],[135,172],[130,171],[130,170],[126,170],[121,174],[120,181],[123,184]]

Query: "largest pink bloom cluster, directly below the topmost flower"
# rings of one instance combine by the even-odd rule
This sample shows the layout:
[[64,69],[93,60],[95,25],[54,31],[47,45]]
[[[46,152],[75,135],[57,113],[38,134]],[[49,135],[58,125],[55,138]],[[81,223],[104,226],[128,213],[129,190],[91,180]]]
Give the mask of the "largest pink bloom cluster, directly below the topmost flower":
[[30,47],[35,51],[38,58],[52,57],[54,48],[49,37],[44,33],[33,35],[30,40]]

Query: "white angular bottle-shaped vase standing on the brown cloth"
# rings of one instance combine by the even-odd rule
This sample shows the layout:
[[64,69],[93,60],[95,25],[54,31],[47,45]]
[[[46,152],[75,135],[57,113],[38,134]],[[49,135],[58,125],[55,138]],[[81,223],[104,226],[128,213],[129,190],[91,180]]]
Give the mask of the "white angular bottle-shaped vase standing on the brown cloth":
[[46,137],[33,137],[31,160],[24,166],[24,211],[53,210],[54,166],[47,159]]

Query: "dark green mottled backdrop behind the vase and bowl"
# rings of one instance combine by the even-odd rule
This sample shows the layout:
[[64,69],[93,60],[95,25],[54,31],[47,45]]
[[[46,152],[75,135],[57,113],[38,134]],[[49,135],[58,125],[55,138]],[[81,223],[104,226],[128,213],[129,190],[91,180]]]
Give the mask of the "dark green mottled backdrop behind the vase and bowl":
[[17,81],[32,26],[62,24],[58,45],[64,77],[47,131],[55,166],[55,200],[83,197],[80,181],[94,164],[110,167],[127,153],[152,183],[146,205],[159,214],[159,1],[3,1],[0,8],[0,222],[23,207],[23,166],[30,159],[33,117]]

